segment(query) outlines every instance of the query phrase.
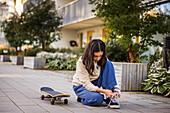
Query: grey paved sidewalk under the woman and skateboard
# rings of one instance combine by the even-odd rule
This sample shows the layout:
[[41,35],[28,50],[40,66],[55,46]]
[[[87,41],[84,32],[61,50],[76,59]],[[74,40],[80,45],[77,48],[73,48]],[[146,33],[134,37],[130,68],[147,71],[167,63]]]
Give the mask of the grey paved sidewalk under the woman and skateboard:
[[[41,100],[42,86],[69,93],[69,103]],[[0,113],[170,113],[170,98],[158,95],[123,92],[119,102],[120,109],[84,106],[76,102],[69,75],[0,62]]]

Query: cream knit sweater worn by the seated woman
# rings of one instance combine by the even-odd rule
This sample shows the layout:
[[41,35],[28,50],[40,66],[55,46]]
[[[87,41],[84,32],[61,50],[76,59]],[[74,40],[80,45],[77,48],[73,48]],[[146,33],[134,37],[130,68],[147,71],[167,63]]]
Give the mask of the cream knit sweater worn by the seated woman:
[[73,85],[83,85],[89,91],[96,91],[98,87],[93,85],[91,81],[96,80],[99,77],[101,67],[98,66],[97,63],[94,63],[94,67],[94,75],[89,75],[82,62],[82,58],[80,57],[76,64],[76,73],[74,74],[72,81]]

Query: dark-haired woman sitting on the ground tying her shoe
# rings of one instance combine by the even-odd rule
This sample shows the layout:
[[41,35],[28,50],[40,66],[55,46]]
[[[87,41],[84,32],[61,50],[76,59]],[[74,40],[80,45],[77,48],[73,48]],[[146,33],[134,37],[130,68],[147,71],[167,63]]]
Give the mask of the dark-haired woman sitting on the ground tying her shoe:
[[[116,87],[114,67],[107,60],[103,41],[94,39],[89,42],[77,62],[72,83],[78,102],[84,105],[100,105],[106,101],[110,108],[120,107],[113,100],[120,97],[120,90]],[[107,98],[104,99],[101,93]]]

